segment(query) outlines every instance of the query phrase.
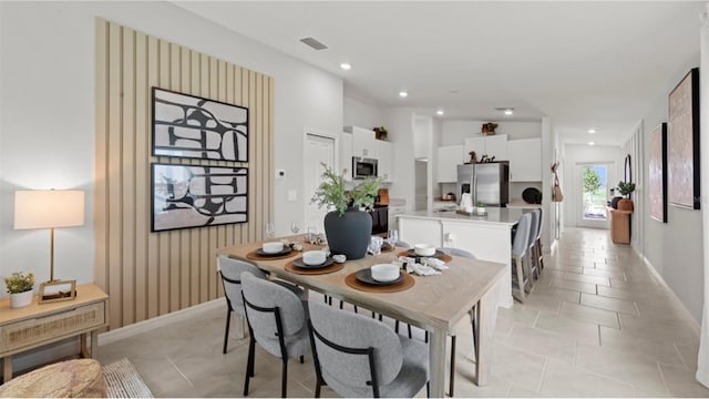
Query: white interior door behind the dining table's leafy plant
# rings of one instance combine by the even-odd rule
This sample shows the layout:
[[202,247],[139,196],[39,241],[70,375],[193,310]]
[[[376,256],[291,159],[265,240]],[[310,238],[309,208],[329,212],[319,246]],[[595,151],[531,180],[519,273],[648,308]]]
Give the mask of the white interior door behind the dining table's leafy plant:
[[305,223],[302,224],[302,232],[307,232],[308,226],[315,226],[319,233],[325,229],[322,227],[322,221],[328,209],[319,209],[317,205],[310,204],[312,194],[320,185],[322,181],[322,163],[337,171],[335,165],[335,139],[326,137],[317,134],[306,134],[306,150],[304,160],[304,195],[302,201],[305,205]]

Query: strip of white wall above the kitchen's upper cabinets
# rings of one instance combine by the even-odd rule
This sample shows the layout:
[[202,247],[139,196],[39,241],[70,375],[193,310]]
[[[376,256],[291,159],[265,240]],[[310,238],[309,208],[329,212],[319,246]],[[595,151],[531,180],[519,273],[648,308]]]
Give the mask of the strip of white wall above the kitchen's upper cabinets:
[[[443,121],[441,123],[440,146],[459,145],[466,137],[481,135],[483,123],[490,121]],[[542,137],[542,121],[540,122],[504,122],[497,121],[495,134],[507,134],[507,140]]]

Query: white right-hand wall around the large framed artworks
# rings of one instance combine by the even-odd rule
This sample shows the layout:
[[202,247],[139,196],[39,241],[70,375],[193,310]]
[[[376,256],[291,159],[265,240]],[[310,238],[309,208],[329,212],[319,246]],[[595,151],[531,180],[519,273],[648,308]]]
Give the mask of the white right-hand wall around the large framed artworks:
[[[699,49],[697,57],[678,64],[674,75],[667,76],[664,82],[662,94],[659,95],[651,109],[645,114],[643,120],[645,140],[645,162],[644,170],[649,167],[649,132],[659,123],[667,122],[667,94],[677,83],[689,72],[691,68],[699,65]],[[706,106],[709,99],[700,99],[701,106]],[[705,137],[702,132],[702,139]],[[668,132],[671,135],[671,132]],[[629,140],[629,142],[631,139]],[[706,145],[706,142],[701,142]],[[702,163],[706,160],[702,160]],[[643,182],[648,186],[647,173]],[[634,174],[635,176],[635,174]],[[634,177],[635,178],[635,177]],[[706,193],[709,180],[701,177],[701,191]],[[646,190],[643,195],[645,204],[649,204],[649,193]],[[643,255],[662,276],[667,285],[675,291],[682,304],[687,307],[695,320],[701,321],[701,309],[703,306],[703,231],[702,213],[707,209],[692,211],[669,205],[667,207],[667,223],[659,223],[649,216],[649,206],[645,206],[645,212],[639,215],[645,218],[644,243],[636,250],[641,250]]]

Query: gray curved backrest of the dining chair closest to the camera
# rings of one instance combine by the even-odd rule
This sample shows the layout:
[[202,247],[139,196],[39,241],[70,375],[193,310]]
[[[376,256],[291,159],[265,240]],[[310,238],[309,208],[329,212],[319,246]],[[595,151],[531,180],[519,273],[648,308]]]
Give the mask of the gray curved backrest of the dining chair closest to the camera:
[[318,371],[337,389],[371,389],[390,383],[403,362],[401,341],[383,323],[310,301],[310,339]]

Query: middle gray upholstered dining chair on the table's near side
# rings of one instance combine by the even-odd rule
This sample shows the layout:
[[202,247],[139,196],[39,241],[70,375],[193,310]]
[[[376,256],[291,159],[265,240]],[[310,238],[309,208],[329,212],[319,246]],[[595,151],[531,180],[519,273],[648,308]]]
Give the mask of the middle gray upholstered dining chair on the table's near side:
[[288,359],[300,358],[310,352],[307,301],[301,301],[290,289],[258,278],[248,272],[242,273],[242,297],[246,309],[246,321],[250,335],[244,396],[248,395],[248,382],[254,377],[256,342],[269,354],[282,360],[281,397],[288,387]]

